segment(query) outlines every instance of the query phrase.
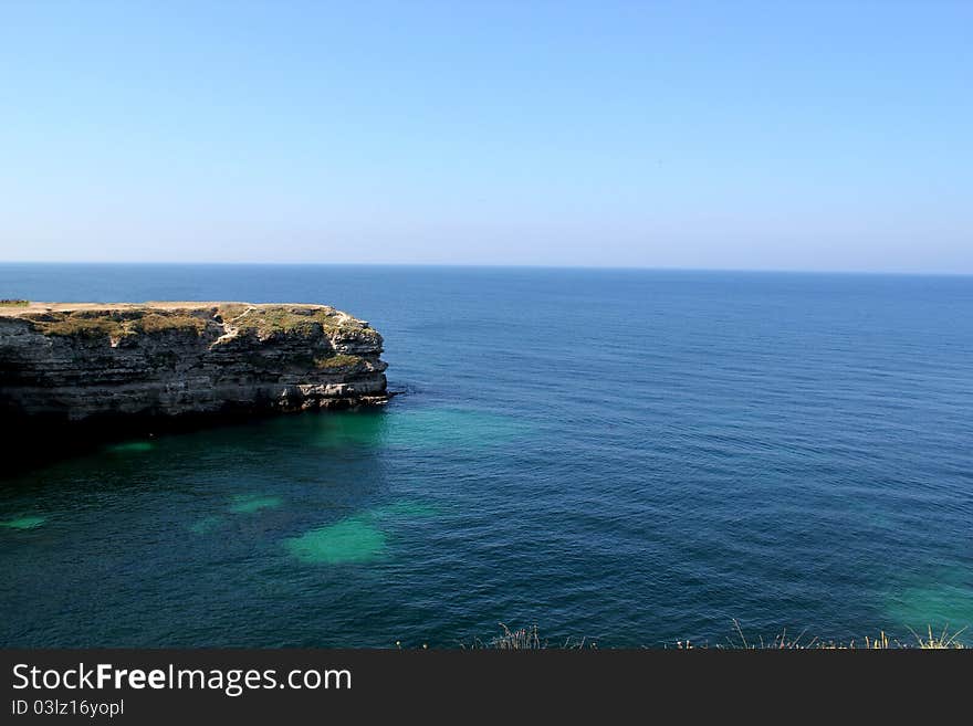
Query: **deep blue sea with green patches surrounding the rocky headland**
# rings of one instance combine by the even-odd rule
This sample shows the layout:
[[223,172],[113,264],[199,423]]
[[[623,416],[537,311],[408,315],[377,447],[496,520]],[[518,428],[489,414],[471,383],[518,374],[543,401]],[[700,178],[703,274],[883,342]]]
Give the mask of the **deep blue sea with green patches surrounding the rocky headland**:
[[0,480],[0,644],[973,623],[973,278],[0,265],[0,297],[329,303],[405,391]]

